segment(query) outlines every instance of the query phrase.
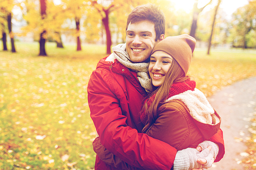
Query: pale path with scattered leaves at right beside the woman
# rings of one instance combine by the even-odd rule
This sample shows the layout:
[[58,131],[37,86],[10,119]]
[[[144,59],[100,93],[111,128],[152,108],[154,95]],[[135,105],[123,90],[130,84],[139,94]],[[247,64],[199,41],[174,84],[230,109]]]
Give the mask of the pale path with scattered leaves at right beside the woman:
[[209,169],[244,169],[240,153],[246,150],[243,141],[250,136],[250,118],[256,115],[256,77],[227,86],[208,100],[222,118],[226,151],[224,158]]

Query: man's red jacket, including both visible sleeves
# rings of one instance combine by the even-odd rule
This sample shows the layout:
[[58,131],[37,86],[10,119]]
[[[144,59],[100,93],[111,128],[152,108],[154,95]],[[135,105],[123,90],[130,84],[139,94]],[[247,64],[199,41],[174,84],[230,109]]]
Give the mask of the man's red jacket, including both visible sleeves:
[[[118,61],[103,58],[88,83],[91,118],[102,145],[126,163],[144,169],[171,169],[177,150],[169,144],[141,133],[139,112],[147,93],[137,73]],[[219,145],[216,162],[224,156],[220,130],[210,141]],[[96,156],[95,170],[115,169]]]

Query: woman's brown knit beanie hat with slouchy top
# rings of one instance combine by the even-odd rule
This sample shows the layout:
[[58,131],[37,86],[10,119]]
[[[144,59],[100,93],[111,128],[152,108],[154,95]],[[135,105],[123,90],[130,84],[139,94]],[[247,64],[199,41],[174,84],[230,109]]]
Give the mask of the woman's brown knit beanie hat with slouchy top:
[[154,46],[151,54],[156,51],[169,54],[179,63],[186,76],[195,46],[196,39],[187,34],[166,37]]

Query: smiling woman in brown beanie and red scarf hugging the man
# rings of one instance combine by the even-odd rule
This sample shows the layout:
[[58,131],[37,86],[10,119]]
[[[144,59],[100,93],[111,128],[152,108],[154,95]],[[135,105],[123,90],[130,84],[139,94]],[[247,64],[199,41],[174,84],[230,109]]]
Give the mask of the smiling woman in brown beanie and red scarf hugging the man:
[[[185,34],[166,37],[155,45],[148,66],[155,91],[145,100],[140,113],[145,125],[143,133],[178,150],[174,169],[185,168],[179,166],[183,154],[181,150],[196,148],[199,143],[208,140],[218,132],[221,123],[220,116],[204,94],[195,88],[196,82],[187,76],[195,45],[196,40]],[[93,145],[102,160],[117,168],[134,168],[112,154],[104,153],[101,157],[100,153],[108,151],[99,147],[99,142],[96,140]],[[211,150],[216,158],[218,147]],[[191,164],[185,169],[194,167]]]

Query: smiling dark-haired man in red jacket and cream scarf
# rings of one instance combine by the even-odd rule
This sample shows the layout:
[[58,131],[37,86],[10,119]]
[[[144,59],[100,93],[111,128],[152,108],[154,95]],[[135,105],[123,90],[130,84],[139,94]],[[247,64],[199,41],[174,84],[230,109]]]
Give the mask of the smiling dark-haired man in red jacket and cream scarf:
[[[167,143],[141,133],[139,112],[147,92],[152,90],[146,74],[148,57],[154,45],[164,39],[164,27],[164,15],[157,7],[135,8],[127,19],[126,44],[113,47],[114,53],[99,61],[88,83],[91,117],[102,145],[127,164],[142,169],[171,169],[174,164],[175,169],[184,169],[182,165],[191,157],[185,150],[177,153]],[[222,131],[210,141],[218,144],[211,147],[219,147],[219,154],[215,153],[219,161],[224,155]],[[97,155],[95,169],[117,169],[107,163]]]

